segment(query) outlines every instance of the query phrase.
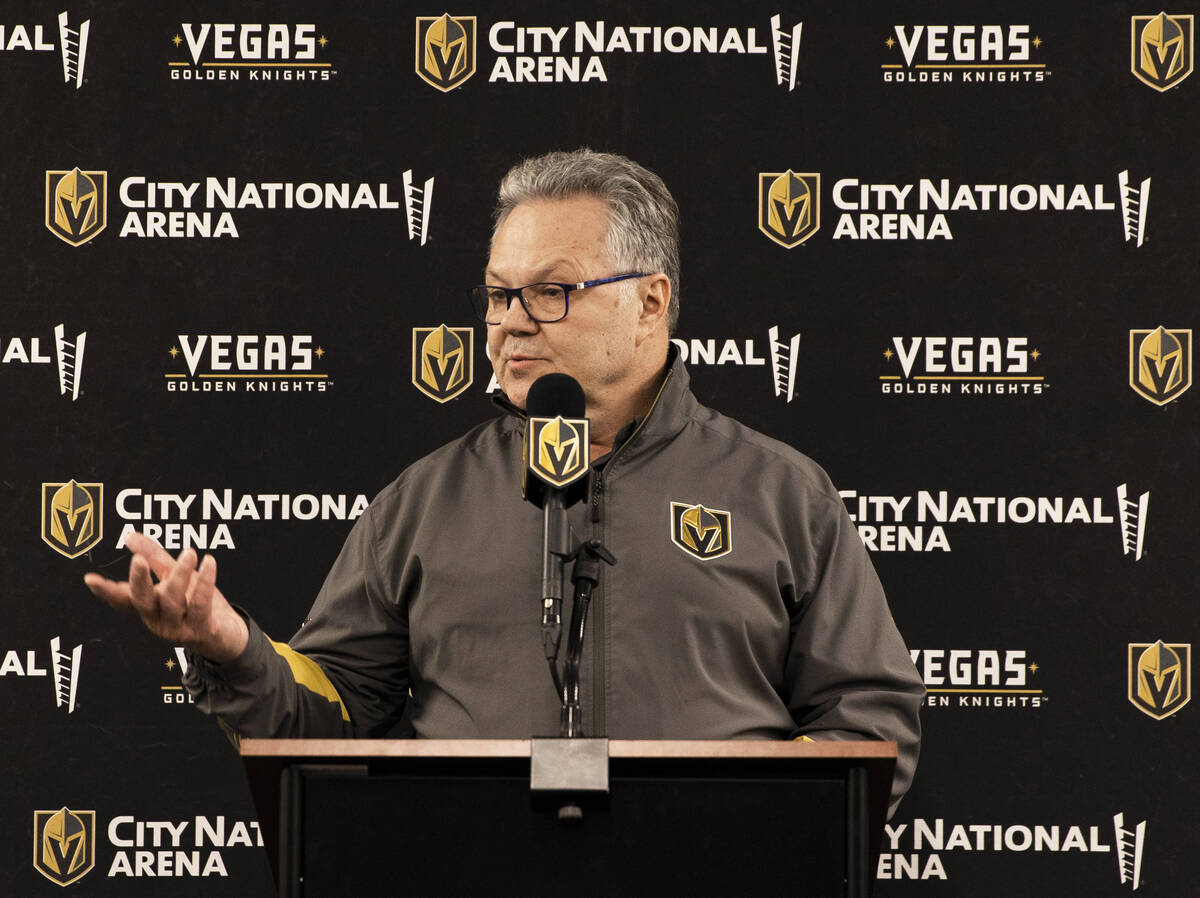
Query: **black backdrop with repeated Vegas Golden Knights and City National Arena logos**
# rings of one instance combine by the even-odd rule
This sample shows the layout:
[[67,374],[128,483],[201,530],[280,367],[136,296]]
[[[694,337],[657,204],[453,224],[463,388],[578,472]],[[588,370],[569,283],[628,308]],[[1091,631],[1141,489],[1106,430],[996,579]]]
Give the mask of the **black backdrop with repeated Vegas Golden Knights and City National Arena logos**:
[[581,145],[674,192],[697,395],[829,471],[929,688],[876,894],[1192,891],[1198,14],[4,5],[0,892],[272,893],[186,660],[83,574],[196,546],[287,639],[494,413],[496,185]]

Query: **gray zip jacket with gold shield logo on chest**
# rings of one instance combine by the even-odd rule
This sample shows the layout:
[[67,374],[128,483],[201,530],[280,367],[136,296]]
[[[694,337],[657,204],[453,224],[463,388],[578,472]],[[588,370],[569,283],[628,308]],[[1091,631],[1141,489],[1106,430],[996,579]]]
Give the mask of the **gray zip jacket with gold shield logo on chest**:
[[[379,736],[406,700],[418,736],[557,735],[523,431],[505,414],[404,471],[355,523],[290,648],[251,621],[235,661],[190,665],[197,705],[252,736]],[[570,521],[617,557],[588,622],[587,735],[895,740],[894,807],[924,688],[820,467],[701,406],[676,360]]]

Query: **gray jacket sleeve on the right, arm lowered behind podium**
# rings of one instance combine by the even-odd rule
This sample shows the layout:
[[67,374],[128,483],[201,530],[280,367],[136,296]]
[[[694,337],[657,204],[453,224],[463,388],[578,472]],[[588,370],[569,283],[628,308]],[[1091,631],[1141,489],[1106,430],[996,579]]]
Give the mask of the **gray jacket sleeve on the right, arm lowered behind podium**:
[[792,737],[895,741],[890,816],[917,768],[925,687],[841,501],[817,502],[834,507],[830,513],[826,504],[820,522],[809,522],[809,574],[799,577],[806,581],[802,593],[788,597]]

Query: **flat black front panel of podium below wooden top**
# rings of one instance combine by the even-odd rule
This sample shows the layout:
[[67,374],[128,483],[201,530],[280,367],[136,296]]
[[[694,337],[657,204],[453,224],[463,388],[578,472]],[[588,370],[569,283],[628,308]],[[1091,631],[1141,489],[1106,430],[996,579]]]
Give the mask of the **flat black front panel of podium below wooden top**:
[[[557,804],[532,810],[528,776],[304,767],[292,794],[306,898],[845,890],[842,779],[613,774],[608,800],[569,821]],[[464,806],[475,813],[464,815]]]

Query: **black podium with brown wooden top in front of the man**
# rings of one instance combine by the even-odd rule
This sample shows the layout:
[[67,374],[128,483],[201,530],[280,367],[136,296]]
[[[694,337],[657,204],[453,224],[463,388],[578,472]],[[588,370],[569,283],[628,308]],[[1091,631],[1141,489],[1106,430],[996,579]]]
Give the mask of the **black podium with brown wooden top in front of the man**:
[[562,742],[247,738],[241,755],[282,898],[870,893],[894,742],[589,740],[607,791],[532,791],[538,743]]

